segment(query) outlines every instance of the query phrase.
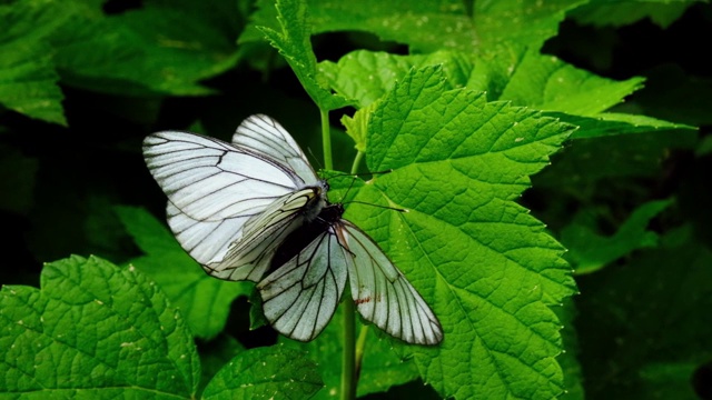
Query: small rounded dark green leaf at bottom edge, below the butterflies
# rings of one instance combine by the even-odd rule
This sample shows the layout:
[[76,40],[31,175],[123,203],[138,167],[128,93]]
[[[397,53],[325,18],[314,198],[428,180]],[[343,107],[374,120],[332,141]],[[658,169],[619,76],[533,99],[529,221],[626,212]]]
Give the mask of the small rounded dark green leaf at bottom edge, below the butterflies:
[[211,399],[307,399],[324,383],[305,353],[281,346],[244,351],[225,366],[202,393]]

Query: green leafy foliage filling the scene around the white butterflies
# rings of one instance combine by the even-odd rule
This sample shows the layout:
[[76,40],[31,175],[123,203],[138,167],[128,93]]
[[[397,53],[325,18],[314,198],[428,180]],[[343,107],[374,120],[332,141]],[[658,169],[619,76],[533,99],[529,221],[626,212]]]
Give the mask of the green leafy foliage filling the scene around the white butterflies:
[[[358,397],[709,398],[712,77],[681,49],[711,10],[0,1],[0,397],[347,398],[354,348]],[[439,346],[354,343],[347,307],[278,337],[181,250],[141,140],[254,113],[328,167]]]

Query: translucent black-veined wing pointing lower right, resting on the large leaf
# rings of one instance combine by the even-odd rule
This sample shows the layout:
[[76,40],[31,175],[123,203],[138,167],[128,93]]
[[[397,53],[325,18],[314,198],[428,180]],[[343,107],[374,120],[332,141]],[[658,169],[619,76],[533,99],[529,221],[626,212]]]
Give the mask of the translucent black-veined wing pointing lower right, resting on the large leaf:
[[346,220],[335,228],[350,250],[348,277],[362,317],[408,343],[439,343],[443,328],[435,313],[378,244]]

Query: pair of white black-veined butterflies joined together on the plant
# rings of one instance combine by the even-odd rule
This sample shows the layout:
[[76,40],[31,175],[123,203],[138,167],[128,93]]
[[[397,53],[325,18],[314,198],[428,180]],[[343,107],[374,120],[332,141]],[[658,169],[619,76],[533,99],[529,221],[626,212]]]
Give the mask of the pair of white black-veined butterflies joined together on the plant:
[[150,134],[144,157],[168,196],[168,224],[211,276],[257,282],[267,320],[301,341],[329,322],[348,279],[362,317],[409,343],[443,339],[437,318],[383,250],[329,203],[277,121],[246,119],[231,143]]

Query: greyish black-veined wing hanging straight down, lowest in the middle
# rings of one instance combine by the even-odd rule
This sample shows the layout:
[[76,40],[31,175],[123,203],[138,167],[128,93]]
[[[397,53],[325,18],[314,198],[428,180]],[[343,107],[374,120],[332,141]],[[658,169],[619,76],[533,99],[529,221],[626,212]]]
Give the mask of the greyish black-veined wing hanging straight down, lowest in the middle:
[[340,301],[348,257],[337,237],[325,231],[259,282],[263,310],[273,328],[295,340],[316,338]]

